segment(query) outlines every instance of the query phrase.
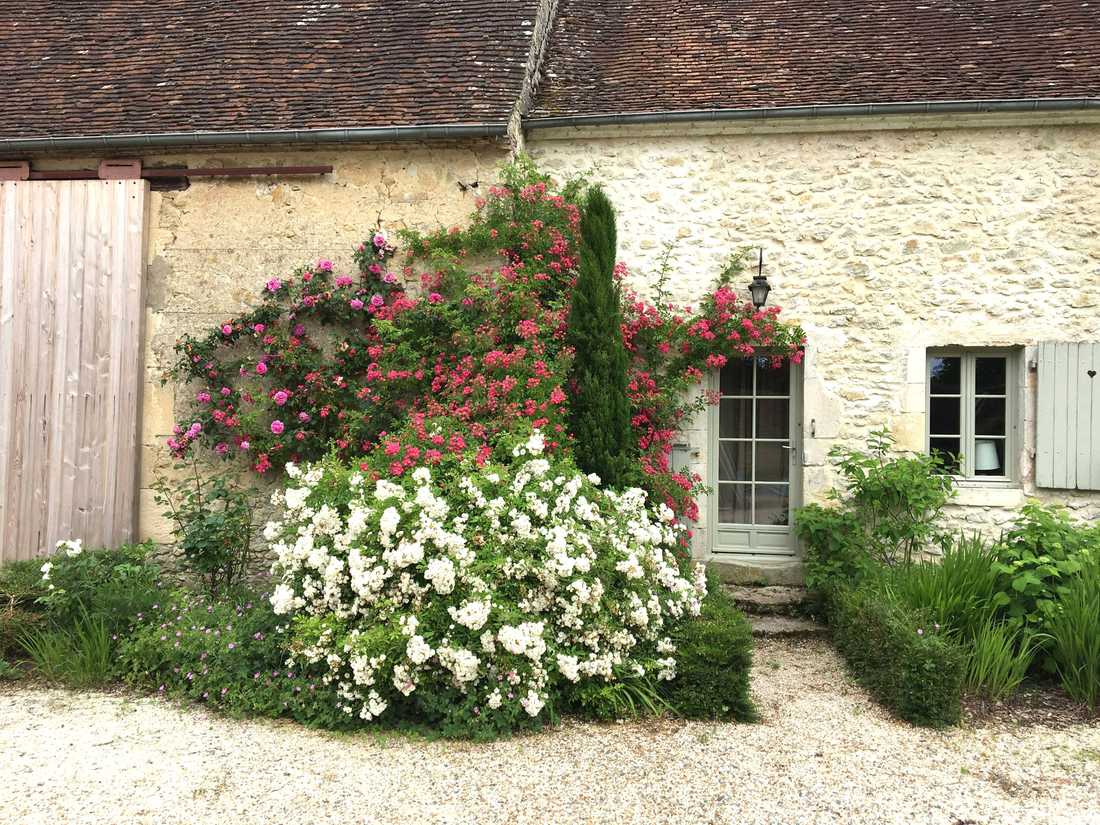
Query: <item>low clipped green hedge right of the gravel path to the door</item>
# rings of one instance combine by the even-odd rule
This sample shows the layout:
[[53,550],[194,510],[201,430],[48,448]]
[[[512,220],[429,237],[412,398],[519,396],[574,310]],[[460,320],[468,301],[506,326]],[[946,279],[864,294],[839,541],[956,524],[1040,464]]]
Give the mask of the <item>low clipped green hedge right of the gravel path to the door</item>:
[[902,719],[939,727],[959,719],[964,652],[880,580],[836,588],[834,641],[856,679]]

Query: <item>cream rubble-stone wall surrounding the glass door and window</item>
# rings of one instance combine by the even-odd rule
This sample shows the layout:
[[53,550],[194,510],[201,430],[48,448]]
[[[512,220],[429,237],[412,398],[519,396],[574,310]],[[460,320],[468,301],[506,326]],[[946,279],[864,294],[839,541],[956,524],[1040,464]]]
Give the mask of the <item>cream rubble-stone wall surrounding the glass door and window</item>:
[[[529,138],[548,170],[605,185],[619,254],[642,289],[666,241],[685,302],[734,249],[765,248],[770,302],[810,340],[805,501],[834,483],[834,444],[886,426],[923,450],[927,348],[1022,346],[1025,363],[1041,340],[1100,340],[1100,125],[812,128]],[[1100,517],[1100,493],[1035,488],[1035,376],[1025,377],[1022,482],[960,491],[960,524],[996,529],[1032,495]],[[705,472],[705,421],[689,436]]]

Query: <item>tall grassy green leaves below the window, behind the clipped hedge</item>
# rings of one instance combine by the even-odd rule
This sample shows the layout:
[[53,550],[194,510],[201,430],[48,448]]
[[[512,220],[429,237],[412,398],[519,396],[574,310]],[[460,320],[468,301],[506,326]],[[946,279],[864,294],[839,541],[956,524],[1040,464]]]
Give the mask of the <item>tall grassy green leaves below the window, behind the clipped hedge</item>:
[[993,613],[996,547],[979,534],[945,537],[943,556],[897,569],[898,595],[913,609],[968,642]]

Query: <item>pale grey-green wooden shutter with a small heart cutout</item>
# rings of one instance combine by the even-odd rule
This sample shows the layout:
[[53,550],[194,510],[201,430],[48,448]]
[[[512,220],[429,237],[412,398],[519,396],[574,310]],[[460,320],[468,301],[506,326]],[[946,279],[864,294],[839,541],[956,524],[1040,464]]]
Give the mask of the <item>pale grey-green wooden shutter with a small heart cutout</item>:
[[1035,483],[1100,490],[1100,343],[1038,345]]

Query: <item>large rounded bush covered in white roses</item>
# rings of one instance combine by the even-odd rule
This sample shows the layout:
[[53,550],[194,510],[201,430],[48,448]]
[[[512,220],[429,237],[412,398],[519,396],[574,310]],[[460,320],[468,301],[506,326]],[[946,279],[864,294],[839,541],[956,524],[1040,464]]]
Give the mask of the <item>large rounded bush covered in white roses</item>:
[[265,530],[272,604],[346,716],[495,734],[552,718],[585,685],[675,676],[670,637],[706,592],[675,552],[682,528],[642,491],[543,454],[538,431],[506,464],[287,470]]

